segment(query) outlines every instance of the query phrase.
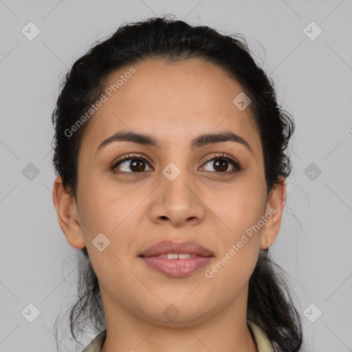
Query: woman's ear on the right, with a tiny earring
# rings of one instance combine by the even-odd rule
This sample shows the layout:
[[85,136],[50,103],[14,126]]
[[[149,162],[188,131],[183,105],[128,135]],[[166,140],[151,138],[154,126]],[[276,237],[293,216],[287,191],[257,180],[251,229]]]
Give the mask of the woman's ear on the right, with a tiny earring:
[[[283,209],[286,203],[286,182],[285,177],[280,176],[280,181],[270,192],[265,206],[265,224],[261,236],[261,249],[266,250],[272,245],[278,235],[281,226]],[[269,245],[267,245],[267,241]]]

